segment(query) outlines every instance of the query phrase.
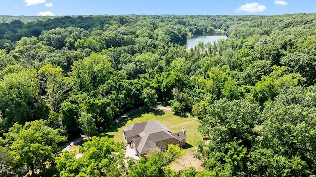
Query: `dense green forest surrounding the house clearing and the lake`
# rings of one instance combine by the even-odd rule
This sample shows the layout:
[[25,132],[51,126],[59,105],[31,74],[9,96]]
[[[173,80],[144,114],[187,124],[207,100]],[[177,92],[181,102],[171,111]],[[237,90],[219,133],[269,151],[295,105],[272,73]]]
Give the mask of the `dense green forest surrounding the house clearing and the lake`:
[[[315,27],[316,14],[3,17],[1,176],[316,176]],[[215,32],[228,39],[182,46]],[[106,137],[59,154],[156,102],[198,117],[204,171],[172,171],[177,146],[125,168]]]

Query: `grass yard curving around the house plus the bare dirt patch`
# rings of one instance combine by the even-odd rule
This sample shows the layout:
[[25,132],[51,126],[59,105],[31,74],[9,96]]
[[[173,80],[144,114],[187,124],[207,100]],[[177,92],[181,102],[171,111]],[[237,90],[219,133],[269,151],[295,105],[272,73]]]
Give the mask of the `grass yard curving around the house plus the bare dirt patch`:
[[[197,171],[202,171],[201,162],[193,157],[193,150],[196,148],[195,144],[202,140],[202,136],[198,133],[197,127],[199,122],[196,117],[189,114],[186,117],[174,115],[170,110],[160,109],[145,109],[135,112],[118,123],[114,124],[111,128],[105,129],[96,136],[107,136],[114,138],[116,142],[124,142],[123,128],[133,123],[145,122],[155,119],[166,125],[173,132],[180,132],[182,127],[186,129],[186,145],[183,146],[182,156],[172,162],[169,166],[174,171],[183,171],[189,166],[195,167]],[[79,145],[74,146],[72,150],[79,150]]]

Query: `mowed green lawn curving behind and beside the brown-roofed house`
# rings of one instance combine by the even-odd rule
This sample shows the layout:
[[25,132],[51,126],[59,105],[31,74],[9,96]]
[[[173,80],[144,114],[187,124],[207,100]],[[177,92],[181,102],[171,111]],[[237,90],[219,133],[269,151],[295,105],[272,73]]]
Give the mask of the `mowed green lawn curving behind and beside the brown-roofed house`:
[[114,124],[111,128],[101,132],[100,136],[112,137],[116,142],[125,142],[123,138],[123,127],[133,123],[145,122],[151,119],[160,121],[172,132],[180,132],[182,127],[186,129],[187,139],[186,145],[183,146],[184,153],[192,150],[192,147],[195,146],[198,140],[202,140],[202,136],[197,131],[199,122],[196,117],[192,117],[190,115],[180,117],[174,115],[170,110],[160,109],[145,109],[135,112]]

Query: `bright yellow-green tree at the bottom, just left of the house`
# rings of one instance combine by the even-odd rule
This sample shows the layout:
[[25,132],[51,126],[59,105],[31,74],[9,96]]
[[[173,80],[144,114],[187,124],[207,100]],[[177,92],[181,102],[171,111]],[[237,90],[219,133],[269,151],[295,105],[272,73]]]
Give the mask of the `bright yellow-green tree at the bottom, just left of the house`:
[[80,148],[83,156],[79,159],[72,152],[56,159],[57,169],[61,177],[119,177],[125,166],[123,144],[114,142],[112,138],[92,137]]

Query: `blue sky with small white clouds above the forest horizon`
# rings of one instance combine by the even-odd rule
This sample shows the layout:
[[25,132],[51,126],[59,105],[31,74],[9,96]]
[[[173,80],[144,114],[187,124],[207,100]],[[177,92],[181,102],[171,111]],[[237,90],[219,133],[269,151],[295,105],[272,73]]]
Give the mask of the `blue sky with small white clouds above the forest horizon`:
[[0,0],[0,15],[280,15],[316,13],[316,0]]

